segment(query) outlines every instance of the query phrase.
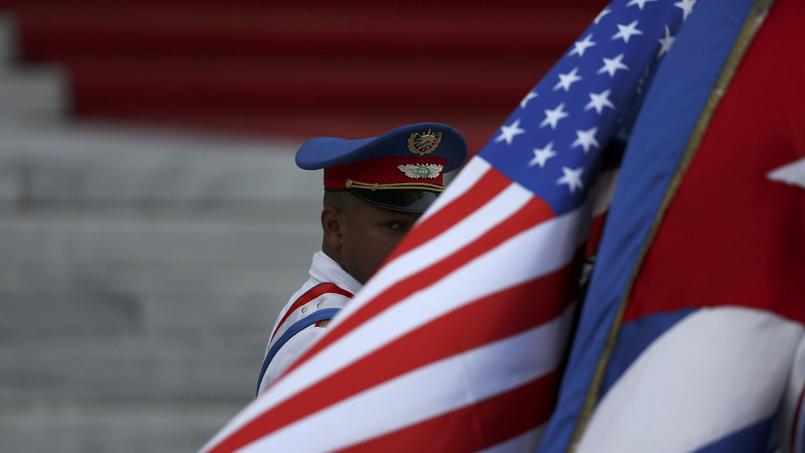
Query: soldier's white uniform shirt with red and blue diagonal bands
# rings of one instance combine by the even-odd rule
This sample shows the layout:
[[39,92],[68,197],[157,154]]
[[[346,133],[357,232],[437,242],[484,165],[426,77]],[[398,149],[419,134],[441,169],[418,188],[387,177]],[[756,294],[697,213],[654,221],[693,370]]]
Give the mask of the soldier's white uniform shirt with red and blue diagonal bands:
[[274,322],[257,379],[258,395],[324,334],[324,327],[316,324],[332,319],[361,289],[357,280],[321,250],[313,255],[309,273],[310,278]]

